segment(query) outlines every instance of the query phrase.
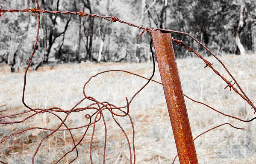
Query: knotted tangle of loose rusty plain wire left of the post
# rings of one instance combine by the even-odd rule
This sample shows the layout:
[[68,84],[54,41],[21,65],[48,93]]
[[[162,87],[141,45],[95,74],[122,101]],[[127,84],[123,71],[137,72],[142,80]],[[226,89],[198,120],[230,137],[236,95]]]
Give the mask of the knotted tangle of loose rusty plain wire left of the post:
[[[38,39],[38,36],[37,36],[36,40],[37,40],[37,39]],[[151,44],[151,43],[152,43],[152,41],[150,42],[150,44]],[[151,47],[151,45],[150,45],[150,47]],[[151,47],[151,49],[152,49],[152,47]],[[151,51],[152,51],[152,50],[151,50]],[[153,52],[153,51],[152,51],[152,52]],[[33,54],[34,54],[34,51],[32,52],[32,56],[33,56]],[[153,55],[153,53],[152,53],[152,55]],[[152,57],[153,57],[153,56],[152,56]],[[154,57],[153,57],[153,59],[154,59]],[[31,62],[31,60],[32,60],[32,57],[30,58],[30,62]],[[29,64],[30,64],[30,62],[29,62]],[[28,70],[28,68],[29,68],[29,64],[28,64],[28,66],[27,66],[25,72],[27,72],[27,70]],[[115,71],[115,70],[112,70],[112,71]],[[116,70],[116,71],[120,71],[120,70]],[[154,71],[155,71],[155,63],[153,62],[153,74],[151,75],[150,79],[153,77]],[[101,72],[100,74],[103,74],[103,73],[106,73],[106,72],[108,72],[108,71]],[[126,72],[127,72],[127,71],[126,71]],[[131,73],[131,74],[133,74],[133,73]],[[98,74],[96,74],[96,75],[94,75],[94,76],[91,76],[91,78],[88,80],[88,82],[89,82],[93,77],[95,77],[95,76],[97,76],[97,75],[98,75]],[[139,76],[139,75],[138,75],[138,76]],[[25,78],[25,82],[24,82],[24,92],[25,92],[26,74],[25,74],[24,78]],[[138,92],[141,91],[141,90],[150,82],[150,79],[148,79],[147,83],[146,83],[144,86],[142,86],[142,88],[141,88],[140,90],[138,90]],[[86,82],[85,85],[84,85],[84,88],[83,88],[83,91],[84,91],[84,92],[85,92],[85,86],[86,86],[86,84],[88,84],[88,82]],[[134,94],[134,96],[132,96],[132,99],[138,94],[138,92],[136,92],[136,93]],[[85,99],[89,99],[89,100],[93,101],[94,103],[92,103],[91,105],[88,105],[87,107],[84,107],[84,108],[76,108],[77,105],[79,105],[79,104],[80,104],[82,101],[84,101]],[[85,134],[86,134],[86,132],[87,132],[87,130],[88,130],[88,127],[89,127],[91,124],[93,124],[94,127],[93,127],[93,133],[92,133],[92,135],[91,135],[91,142],[90,142],[90,159],[91,159],[91,163],[93,163],[93,161],[92,161],[92,156],[91,156],[91,149],[92,149],[92,143],[93,143],[93,138],[94,138],[95,125],[96,125],[96,122],[98,122],[101,118],[103,118],[103,122],[104,122],[104,126],[105,126],[105,144],[104,144],[104,153],[103,153],[103,163],[104,163],[104,162],[105,162],[106,138],[107,138],[107,133],[106,133],[106,132],[107,132],[107,130],[106,130],[106,122],[105,122],[105,120],[104,120],[104,116],[103,116],[103,112],[102,112],[102,111],[105,110],[105,109],[108,109],[108,110],[112,113],[112,118],[115,120],[115,122],[118,124],[118,126],[121,128],[121,130],[123,131],[124,135],[125,135],[126,138],[127,138],[128,145],[129,145],[129,152],[130,152],[130,162],[132,163],[132,151],[131,151],[131,146],[130,146],[130,143],[129,143],[128,136],[127,136],[126,132],[124,131],[124,129],[121,127],[121,125],[117,122],[117,120],[116,120],[115,117],[114,117],[114,115],[115,115],[115,116],[129,116],[129,114],[128,114],[128,113],[129,113],[129,104],[132,102],[132,99],[131,99],[130,101],[128,101],[128,99],[126,98],[127,106],[124,106],[124,107],[127,107],[127,112],[125,112],[124,110],[121,110],[121,108],[124,108],[124,107],[116,107],[115,105],[112,105],[112,104],[110,104],[110,103],[108,103],[108,102],[98,102],[98,101],[97,101],[96,99],[94,99],[93,97],[86,96],[86,95],[85,95],[85,98],[83,98],[82,100],[80,100],[80,102],[78,102],[74,107],[72,107],[71,110],[62,110],[62,109],[59,108],[59,107],[52,107],[52,108],[48,108],[48,109],[39,109],[39,108],[32,109],[31,107],[29,107],[28,105],[26,105],[26,103],[23,101],[23,102],[24,102],[24,105],[25,105],[26,107],[28,107],[30,111],[25,111],[25,112],[21,112],[21,113],[16,113],[16,114],[12,114],[12,115],[9,115],[9,116],[3,116],[3,117],[1,117],[1,118],[6,118],[6,117],[10,117],[10,116],[17,116],[17,115],[22,115],[22,114],[24,114],[24,113],[28,113],[28,112],[31,112],[31,111],[34,111],[35,113],[32,113],[30,116],[27,116],[25,119],[23,119],[23,120],[21,120],[21,121],[16,121],[16,122],[2,122],[2,123],[0,123],[0,124],[15,124],[15,123],[21,123],[21,122],[24,122],[25,120],[27,120],[27,119],[29,119],[29,118],[32,118],[33,116],[35,116],[35,115],[37,115],[37,114],[39,114],[39,113],[44,113],[44,112],[48,112],[48,113],[51,113],[51,114],[57,116],[57,117],[61,120],[61,124],[59,124],[59,126],[58,126],[56,129],[48,129],[48,128],[42,128],[42,127],[31,127],[31,128],[27,128],[27,129],[21,130],[21,131],[19,131],[19,132],[17,132],[17,133],[13,133],[11,136],[8,136],[8,137],[2,139],[2,141],[0,141],[0,144],[3,143],[4,141],[6,141],[7,139],[11,138],[12,136],[16,136],[16,135],[21,134],[21,133],[24,133],[24,132],[26,132],[26,131],[28,131],[28,130],[32,130],[32,129],[41,129],[41,130],[50,130],[50,131],[52,131],[52,132],[51,132],[50,134],[48,134],[47,136],[44,136],[44,138],[41,139],[40,143],[38,144],[38,147],[37,147],[37,149],[35,150],[35,153],[34,153],[34,155],[33,155],[33,157],[32,157],[32,163],[34,163],[34,162],[35,162],[35,161],[34,161],[34,158],[35,158],[36,154],[38,153],[38,150],[39,150],[39,148],[41,147],[41,144],[42,144],[42,142],[44,141],[44,139],[46,139],[48,136],[53,135],[53,133],[55,133],[55,132],[58,131],[58,130],[69,130],[70,135],[71,135],[71,138],[72,138],[73,143],[74,143],[74,147],[73,147],[72,150],[70,150],[70,151],[68,151],[67,153],[65,153],[65,154],[56,162],[56,163],[58,163],[59,161],[62,160],[62,158],[64,158],[68,153],[72,152],[74,149],[76,149],[76,151],[77,151],[77,145],[78,145],[79,143],[81,143],[82,139],[84,138],[84,136],[85,136]],[[92,107],[93,105],[97,105],[98,107]],[[102,106],[100,106],[100,105],[102,105]],[[108,107],[108,106],[109,106],[109,107]],[[95,118],[94,118],[94,122],[91,122],[91,118],[92,118],[93,115],[92,115],[92,116],[86,115],[86,118],[87,118],[87,119],[90,119],[90,123],[89,123],[89,124],[84,125],[84,126],[81,126],[81,127],[74,127],[74,128],[69,128],[69,127],[67,127],[67,125],[65,124],[65,120],[68,118],[68,115],[69,115],[71,112],[78,112],[78,111],[83,111],[83,110],[87,110],[87,109],[96,109],[96,110],[97,110],[97,112],[95,112],[95,113],[93,114],[93,115],[96,114],[96,116],[95,116]],[[122,111],[122,112],[124,113],[124,115],[119,115],[119,114],[113,112],[114,109],[118,109],[118,110]],[[65,119],[62,120],[56,113],[53,113],[53,111],[66,113]],[[100,118],[97,119],[97,116],[98,116],[99,114],[100,114]],[[134,131],[135,131],[135,130],[134,130],[134,125],[133,125],[133,123],[132,123],[131,116],[129,116],[129,119],[130,119],[130,122],[131,122],[131,124],[132,124],[132,134],[133,134],[133,135],[132,135],[132,147],[133,147],[133,158],[134,158],[133,163],[135,163],[135,145],[134,145],[134,136],[135,136]],[[60,127],[62,126],[62,124],[65,125],[66,129],[60,129]],[[78,129],[78,128],[82,128],[82,127],[87,127],[87,128],[86,128],[86,130],[85,130],[84,135],[82,136],[82,139],[80,139],[80,141],[79,141],[78,144],[75,144],[73,135],[72,135],[72,133],[71,133],[70,130],[74,130],[74,129]],[[76,156],[76,158],[77,158],[77,157],[78,157],[78,151],[77,151],[77,156]],[[76,158],[74,158],[71,162],[73,162]],[[71,162],[70,162],[70,163],[71,163]]]

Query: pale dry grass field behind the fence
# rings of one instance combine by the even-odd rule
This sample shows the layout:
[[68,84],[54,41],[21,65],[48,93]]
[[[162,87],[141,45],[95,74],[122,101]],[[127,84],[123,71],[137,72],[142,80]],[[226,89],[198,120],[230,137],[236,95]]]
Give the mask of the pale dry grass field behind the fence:
[[[256,105],[256,56],[223,56],[220,57],[230,72],[237,79],[247,96]],[[206,57],[209,62],[228,80],[227,73],[213,57]],[[205,64],[199,58],[177,59],[183,92],[191,98],[232,116],[241,119],[253,118],[253,110],[234,91],[224,90],[226,84],[214,74],[210,68],[203,68]],[[29,71],[27,75],[25,102],[34,108],[61,107],[69,110],[83,98],[82,87],[90,76],[100,71],[121,69],[132,71],[142,76],[150,77],[152,63],[82,63],[43,66],[38,71]],[[11,73],[6,65],[0,65],[0,116],[18,113],[27,110],[21,101],[24,82],[24,72]],[[153,79],[161,81],[159,71]],[[92,79],[85,88],[88,96],[98,101],[108,101],[114,105],[126,105],[125,97],[132,95],[143,86],[147,80],[126,73],[110,72]],[[195,140],[197,157],[200,164],[253,164],[256,163],[256,123],[244,123],[221,114],[185,98],[188,116],[193,136],[212,127],[229,122],[238,130],[224,125],[212,130]],[[83,102],[79,107],[88,105]],[[133,100],[130,115],[135,125],[136,163],[138,164],[165,164],[171,163],[177,150],[165,104],[162,86],[150,82]],[[88,122],[85,114],[72,113],[66,123],[69,127],[81,126]],[[124,134],[113,121],[111,114],[104,111],[108,139],[106,148],[106,163],[129,163],[129,149]],[[21,120],[27,115],[13,117],[12,120]],[[64,115],[61,115],[62,118]],[[0,119],[8,122],[10,119]],[[129,119],[118,118],[129,138],[132,131]],[[56,128],[60,121],[50,114],[36,115],[21,124],[0,125],[0,140],[17,130],[28,127]],[[79,141],[84,128],[73,130],[74,138]],[[79,157],[75,164],[89,163],[89,146],[92,128],[85,139],[78,146]],[[9,164],[31,163],[32,155],[39,141],[49,132],[44,130],[30,130],[0,144],[0,160]],[[35,157],[36,164],[50,164],[58,160],[63,153],[72,148],[71,138],[67,132],[56,132],[47,138]],[[103,122],[97,122],[96,133],[92,149],[94,164],[102,163],[104,146]],[[70,153],[61,163],[68,163],[76,156]],[[176,163],[179,160],[177,159]]]

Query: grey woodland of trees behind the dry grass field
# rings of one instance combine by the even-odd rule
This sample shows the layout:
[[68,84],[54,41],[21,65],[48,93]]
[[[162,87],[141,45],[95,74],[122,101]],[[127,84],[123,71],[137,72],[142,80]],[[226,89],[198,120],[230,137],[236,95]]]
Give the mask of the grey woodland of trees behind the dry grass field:
[[[2,9],[26,9],[34,0],[1,0]],[[256,50],[255,0],[39,0],[41,9],[81,11],[118,17],[148,28],[187,32],[215,54],[250,54]],[[37,14],[2,13],[0,17],[0,62],[11,70],[23,70],[35,42]],[[65,14],[41,14],[38,47],[32,68],[64,62],[144,62],[150,58],[150,35],[121,23],[101,18]],[[201,54],[205,51],[184,35]],[[177,57],[190,54],[174,45]]]

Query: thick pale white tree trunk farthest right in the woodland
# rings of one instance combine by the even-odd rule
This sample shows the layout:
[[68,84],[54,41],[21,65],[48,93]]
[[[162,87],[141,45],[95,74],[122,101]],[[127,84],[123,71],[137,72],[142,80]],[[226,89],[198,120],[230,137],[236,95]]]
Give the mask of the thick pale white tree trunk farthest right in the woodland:
[[239,17],[238,28],[237,28],[237,31],[235,33],[235,43],[236,43],[236,45],[237,45],[237,47],[240,51],[240,55],[244,55],[244,54],[247,54],[247,52],[246,52],[244,46],[241,43],[241,40],[239,38],[239,34],[241,33],[241,30],[244,28],[243,12],[244,12],[245,5],[244,5],[244,2],[242,0],[240,0],[240,4],[241,4],[240,17]]

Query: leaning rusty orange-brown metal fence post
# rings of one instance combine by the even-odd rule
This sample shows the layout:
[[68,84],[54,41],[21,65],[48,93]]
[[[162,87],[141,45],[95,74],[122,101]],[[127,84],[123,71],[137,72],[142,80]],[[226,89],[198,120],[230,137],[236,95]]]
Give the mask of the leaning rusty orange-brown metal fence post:
[[151,33],[171,126],[181,164],[198,164],[188,113],[179,79],[171,33]]

